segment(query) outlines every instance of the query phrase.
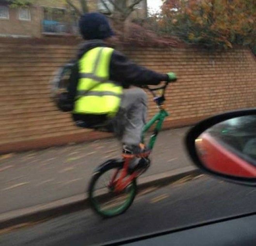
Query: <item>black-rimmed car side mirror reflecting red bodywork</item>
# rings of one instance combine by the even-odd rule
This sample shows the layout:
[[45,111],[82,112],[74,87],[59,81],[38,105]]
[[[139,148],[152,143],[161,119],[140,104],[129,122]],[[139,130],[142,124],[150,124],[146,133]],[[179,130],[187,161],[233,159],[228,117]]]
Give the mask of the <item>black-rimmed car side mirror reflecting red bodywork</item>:
[[256,186],[256,109],[228,112],[201,121],[187,133],[185,145],[202,171]]

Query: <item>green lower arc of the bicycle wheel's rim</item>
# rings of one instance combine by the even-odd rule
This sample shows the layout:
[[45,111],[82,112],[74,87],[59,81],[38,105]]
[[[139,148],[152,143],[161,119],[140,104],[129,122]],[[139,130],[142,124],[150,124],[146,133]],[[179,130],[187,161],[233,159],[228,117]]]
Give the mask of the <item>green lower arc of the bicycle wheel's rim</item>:
[[[117,206],[117,207],[112,208],[110,210],[104,211],[100,208],[100,205],[97,203],[95,198],[92,198],[92,203],[93,203],[95,209],[97,210],[97,212],[99,214],[102,214],[102,215],[106,216],[106,217],[112,217],[112,216],[115,216],[115,215],[119,215],[123,211],[125,211],[126,208],[130,206],[130,204],[133,201],[133,198],[135,196],[135,193],[136,193],[136,187],[135,187],[134,183],[132,182],[130,185],[131,185],[131,191],[128,195],[128,198],[126,199],[125,203],[123,203],[123,205],[121,205],[120,207]],[[94,190],[93,190],[93,192],[94,192]],[[92,197],[93,197],[93,192],[92,192]]]

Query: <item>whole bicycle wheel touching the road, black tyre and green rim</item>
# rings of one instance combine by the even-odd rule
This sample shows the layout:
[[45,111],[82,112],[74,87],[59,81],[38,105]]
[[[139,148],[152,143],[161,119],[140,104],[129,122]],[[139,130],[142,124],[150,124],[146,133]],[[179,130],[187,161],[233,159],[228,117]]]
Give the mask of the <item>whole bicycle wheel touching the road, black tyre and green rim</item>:
[[90,181],[89,200],[93,210],[102,217],[123,214],[136,196],[136,179],[133,179],[123,191],[114,191],[115,180],[119,178],[122,168],[123,162],[107,162],[97,170]]

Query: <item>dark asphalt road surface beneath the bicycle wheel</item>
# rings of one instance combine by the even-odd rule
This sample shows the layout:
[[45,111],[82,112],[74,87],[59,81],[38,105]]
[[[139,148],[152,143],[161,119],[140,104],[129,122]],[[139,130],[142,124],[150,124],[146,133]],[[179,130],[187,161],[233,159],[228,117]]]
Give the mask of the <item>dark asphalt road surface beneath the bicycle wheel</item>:
[[160,189],[152,186],[118,217],[103,220],[87,209],[5,231],[0,236],[1,245],[103,244],[256,211],[255,187],[226,183],[206,175],[184,181]]

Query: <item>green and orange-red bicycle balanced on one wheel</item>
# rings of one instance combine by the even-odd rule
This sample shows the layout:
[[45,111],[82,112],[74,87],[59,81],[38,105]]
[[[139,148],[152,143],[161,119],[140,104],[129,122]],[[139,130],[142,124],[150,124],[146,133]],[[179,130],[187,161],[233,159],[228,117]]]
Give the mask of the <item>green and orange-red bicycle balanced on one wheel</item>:
[[[161,87],[144,87],[152,93],[154,102],[156,102],[159,108],[159,112],[144,126],[142,132],[142,143],[144,143],[145,133],[156,123],[154,132],[147,145],[150,152],[141,158],[142,161],[148,163],[148,167],[150,165],[149,155],[154,147],[157,135],[162,128],[164,119],[169,115],[164,107],[164,94],[167,85],[168,82],[165,82]],[[155,91],[158,90],[162,90],[161,96],[156,95]],[[144,173],[146,169],[135,170],[131,173],[128,168],[130,159],[131,158],[108,160],[98,166],[93,173],[88,189],[88,197],[93,210],[104,218],[123,214],[133,203],[137,193],[137,178]],[[110,177],[105,178],[104,184],[98,187],[99,181],[105,174],[109,174]],[[113,204],[111,204],[111,201]]]

